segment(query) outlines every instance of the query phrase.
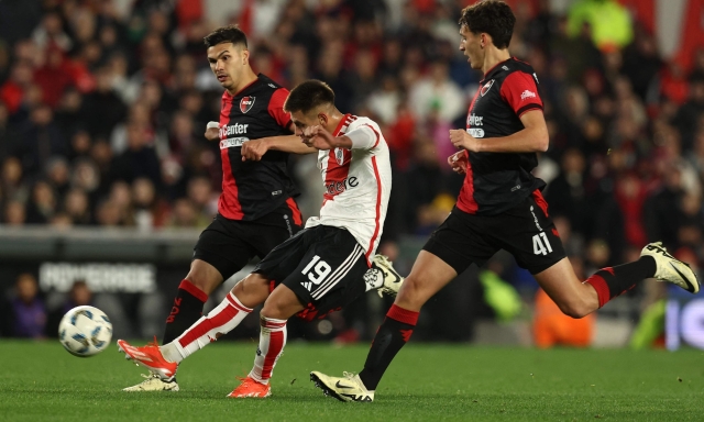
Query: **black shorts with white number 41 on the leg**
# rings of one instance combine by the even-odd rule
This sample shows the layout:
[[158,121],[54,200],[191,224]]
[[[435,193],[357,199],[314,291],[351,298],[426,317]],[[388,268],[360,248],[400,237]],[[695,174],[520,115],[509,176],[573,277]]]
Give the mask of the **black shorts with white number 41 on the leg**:
[[562,241],[540,191],[498,215],[452,210],[422,247],[458,274],[473,263],[484,265],[498,249],[510,253],[521,268],[538,274],[565,257]]

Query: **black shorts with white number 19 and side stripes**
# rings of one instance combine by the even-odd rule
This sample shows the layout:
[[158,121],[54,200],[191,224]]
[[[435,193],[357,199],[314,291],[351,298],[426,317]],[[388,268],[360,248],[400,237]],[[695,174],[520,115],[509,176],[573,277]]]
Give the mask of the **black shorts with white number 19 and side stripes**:
[[364,249],[344,229],[308,227],[276,246],[254,268],[275,286],[292,289],[306,309],[298,316],[322,319],[364,293]]

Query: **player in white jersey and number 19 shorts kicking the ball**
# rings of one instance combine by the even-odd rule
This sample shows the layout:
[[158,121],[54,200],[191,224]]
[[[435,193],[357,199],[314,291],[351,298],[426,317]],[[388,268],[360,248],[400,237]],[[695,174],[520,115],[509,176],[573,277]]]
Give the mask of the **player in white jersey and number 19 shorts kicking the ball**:
[[176,375],[183,359],[264,303],[254,367],[229,397],[268,397],[289,318],[324,318],[371,289],[395,295],[403,282],[385,265],[388,262],[370,260],[382,235],[392,186],[388,146],[378,125],[342,114],[334,107],[332,89],[318,80],[294,88],[284,110],[292,115],[296,135],[319,149],[327,189],[320,216],[309,219],[306,229],[275,247],[216,309],[174,342],[133,347],[118,341],[125,357],[165,380]]

